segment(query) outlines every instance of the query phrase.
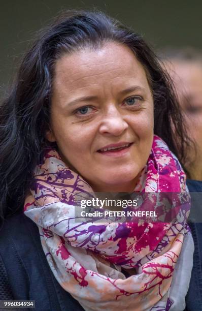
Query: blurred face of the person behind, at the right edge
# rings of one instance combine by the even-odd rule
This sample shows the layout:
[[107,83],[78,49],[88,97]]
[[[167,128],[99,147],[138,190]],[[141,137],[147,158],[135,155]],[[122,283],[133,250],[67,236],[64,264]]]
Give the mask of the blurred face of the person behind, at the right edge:
[[171,60],[166,63],[183,111],[187,131],[196,144],[187,168],[191,179],[202,180],[202,63]]

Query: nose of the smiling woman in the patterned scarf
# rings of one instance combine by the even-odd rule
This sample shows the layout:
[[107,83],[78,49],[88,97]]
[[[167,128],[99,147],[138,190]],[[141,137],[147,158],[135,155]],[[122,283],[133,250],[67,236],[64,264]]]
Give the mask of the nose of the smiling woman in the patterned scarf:
[[128,123],[124,119],[124,115],[121,114],[117,107],[111,105],[103,115],[99,133],[120,136],[127,128]]

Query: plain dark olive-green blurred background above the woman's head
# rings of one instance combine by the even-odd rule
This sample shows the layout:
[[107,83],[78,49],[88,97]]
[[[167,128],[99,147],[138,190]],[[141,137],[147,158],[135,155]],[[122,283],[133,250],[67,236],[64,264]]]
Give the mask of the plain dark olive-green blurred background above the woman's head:
[[202,49],[202,1],[197,0],[7,0],[0,11],[0,92],[12,82],[33,34],[62,9],[98,8],[131,26],[156,50]]

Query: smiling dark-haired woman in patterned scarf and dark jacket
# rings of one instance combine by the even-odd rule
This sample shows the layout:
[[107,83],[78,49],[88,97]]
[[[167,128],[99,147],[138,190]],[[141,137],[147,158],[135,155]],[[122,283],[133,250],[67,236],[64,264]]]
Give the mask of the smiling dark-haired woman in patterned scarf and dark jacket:
[[188,213],[174,224],[74,215],[92,192],[154,193],[152,210],[157,193],[180,192],[189,206],[174,155],[185,160],[182,116],[143,39],[103,13],[66,13],[25,55],[2,115],[2,210],[19,211],[2,229],[7,297],[37,310],[183,310]]

